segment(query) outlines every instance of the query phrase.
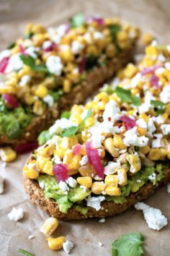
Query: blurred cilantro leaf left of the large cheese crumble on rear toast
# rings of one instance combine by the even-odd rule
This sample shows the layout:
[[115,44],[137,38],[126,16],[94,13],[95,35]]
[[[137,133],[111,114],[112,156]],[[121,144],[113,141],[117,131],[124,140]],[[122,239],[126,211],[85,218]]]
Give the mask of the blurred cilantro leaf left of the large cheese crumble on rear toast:
[[35,64],[35,59],[32,58],[32,56],[22,54],[20,55],[20,58],[22,59],[23,63],[29,66],[33,71],[48,73],[48,69],[45,67],[45,64]]

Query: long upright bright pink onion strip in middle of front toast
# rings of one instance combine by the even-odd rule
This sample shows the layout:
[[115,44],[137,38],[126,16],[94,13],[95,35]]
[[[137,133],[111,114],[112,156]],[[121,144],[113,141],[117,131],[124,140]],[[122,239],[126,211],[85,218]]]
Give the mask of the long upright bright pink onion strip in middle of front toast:
[[101,159],[99,157],[99,151],[95,148],[92,148],[91,141],[86,142],[86,155],[89,163],[94,167],[97,175],[104,179],[104,166],[102,165]]

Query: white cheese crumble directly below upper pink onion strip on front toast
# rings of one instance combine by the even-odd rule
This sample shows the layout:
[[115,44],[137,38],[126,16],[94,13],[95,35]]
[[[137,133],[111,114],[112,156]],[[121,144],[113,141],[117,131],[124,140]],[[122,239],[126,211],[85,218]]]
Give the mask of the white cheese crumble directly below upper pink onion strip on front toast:
[[137,135],[137,127],[133,127],[133,129],[129,129],[127,132],[125,132],[125,138],[123,139],[123,142],[128,147],[130,145],[137,146],[137,147],[144,147],[148,144],[148,137],[141,136],[138,137]]

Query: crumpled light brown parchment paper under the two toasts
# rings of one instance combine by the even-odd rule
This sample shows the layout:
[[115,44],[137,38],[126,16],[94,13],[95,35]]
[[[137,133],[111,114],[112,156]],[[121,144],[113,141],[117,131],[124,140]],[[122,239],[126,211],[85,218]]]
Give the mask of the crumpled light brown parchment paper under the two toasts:
[[[152,33],[162,43],[169,43],[169,1],[130,0],[1,0],[0,1],[0,48],[3,49],[23,33],[28,22],[39,22],[46,26],[58,25],[76,12],[86,15],[120,16],[142,30]],[[0,255],[19,255],[23,248],[35,256],[66,255],[61,249],[51,251],[40,226],[48,216],[35,208],[22,188],[22,167],[28,155],[19,156],[14,163],[0,163],[0,175],[5,179],[4,193],[0,195]],[[161,231],[148,229],[143,213],[131,208],[119,216],[84,221],[60,221],[56,236],[66,236],[74,243],[71,255],[111,255],[112,242],[130,231],[140,231],[145,236],[146,255],[169,255],[170,195],[166,187],[146,200],[148,205],[158,208],[168,218],[169,224]],[[24,218],[9,220],[12,208],[22,208]],[[35,236],[32,239],[28,237]]]

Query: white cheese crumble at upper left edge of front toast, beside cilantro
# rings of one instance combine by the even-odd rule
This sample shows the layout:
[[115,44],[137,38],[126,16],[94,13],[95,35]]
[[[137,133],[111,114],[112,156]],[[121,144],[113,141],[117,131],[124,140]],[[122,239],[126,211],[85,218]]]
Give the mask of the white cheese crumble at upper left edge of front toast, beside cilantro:
[[63,129],[69,128],[69,127],[77,127],[77,124],[66,118],[58,119],[57,121],[55,121],[53,126],[50,127],[49,133],[50,135],[59,134],[63,131]]

